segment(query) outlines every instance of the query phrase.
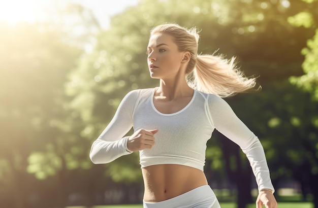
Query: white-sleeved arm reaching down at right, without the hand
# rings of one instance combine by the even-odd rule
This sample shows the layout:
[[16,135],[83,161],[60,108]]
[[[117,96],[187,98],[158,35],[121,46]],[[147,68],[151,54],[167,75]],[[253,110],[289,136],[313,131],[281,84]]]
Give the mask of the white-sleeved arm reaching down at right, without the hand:
[[275,191],[270,179],[263,146],[259,138],[235,115],[228,103],[217,96],[210,95],[209,109],[214,127],[231,141],[240,146],[246,154],[259,191]]

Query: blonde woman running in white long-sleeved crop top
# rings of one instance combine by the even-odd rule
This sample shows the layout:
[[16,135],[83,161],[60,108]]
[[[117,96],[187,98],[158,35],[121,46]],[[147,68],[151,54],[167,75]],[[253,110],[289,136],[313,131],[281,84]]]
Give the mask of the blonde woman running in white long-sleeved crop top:
[[[206,142],[217,129],[238,144],[259,187],[257,207],[277,207],[263,147],[220,97],[255,86],[229,62],[198,55],[195,28],[154,27],[148,45],[153,89],[133,90],[92,144],[93,163],[139,151],[144,207],[220,207],[203,172]],[[123,137],[134,127],[131,136]]]

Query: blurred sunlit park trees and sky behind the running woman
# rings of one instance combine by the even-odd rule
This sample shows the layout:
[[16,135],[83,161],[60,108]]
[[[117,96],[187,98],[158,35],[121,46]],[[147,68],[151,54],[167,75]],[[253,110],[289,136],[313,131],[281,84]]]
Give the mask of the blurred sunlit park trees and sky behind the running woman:
[[[318,207],[315,0],[2,1],[0,207],[142,202],[138,153],[105,165],[88,154],[122,97],[158,84],[145,52],[149,29],[166,22],[196,26],[199,53],[236,56],[258,77],[260,92],[226,100],[259,136],[277,200]],[[217,131],[207,145],[219,201],[254,203],[238,146]]]

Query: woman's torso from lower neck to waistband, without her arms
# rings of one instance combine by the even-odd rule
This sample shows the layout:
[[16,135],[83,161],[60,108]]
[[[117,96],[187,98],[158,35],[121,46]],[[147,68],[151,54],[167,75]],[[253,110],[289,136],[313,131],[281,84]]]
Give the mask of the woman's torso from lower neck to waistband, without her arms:
[[180,102],[155,100],[153,95],[154,89],[145,93],[134,113],[135,131],[158,129],[154,146],[140,151],[147,202],[163,201],[207,184],[203,172],[206,142],[214,129],[199,92]]

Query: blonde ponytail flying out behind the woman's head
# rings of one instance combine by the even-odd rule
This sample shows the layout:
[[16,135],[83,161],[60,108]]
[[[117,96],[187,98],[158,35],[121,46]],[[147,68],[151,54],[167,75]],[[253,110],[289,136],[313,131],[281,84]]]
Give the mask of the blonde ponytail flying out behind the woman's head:
[[245,77],[234,61],[234,57],[228,60],[221,56],[198,55],[187,82],[194,89],[219,97],[233,96],[255,87],[256,79]]

